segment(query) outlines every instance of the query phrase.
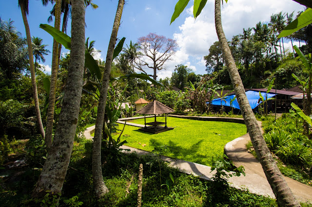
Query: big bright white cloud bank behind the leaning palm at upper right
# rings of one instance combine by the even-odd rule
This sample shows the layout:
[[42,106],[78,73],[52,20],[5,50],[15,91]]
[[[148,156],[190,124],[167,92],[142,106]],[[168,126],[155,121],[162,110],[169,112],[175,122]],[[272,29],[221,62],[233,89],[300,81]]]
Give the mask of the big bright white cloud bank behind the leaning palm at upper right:
[[[208,0],[196,20],[193,17],[193,5],[187,8],[188,17],[173,35],[179,47],[174,60],[184,65],[191,62],[198,74],[206,73],[203,57],[209,53],[210,46],[218,41],[214,4],[214,0]],[[243,28],[252,28],[259,21],[270,21],[272,14],[281,11],[292,13],[294,10],[296,14],[297,11],[304,10],[304,7],[290,0],[230,0],[221,7],[223,30],[228,40],[231,40],[233,35],[241,34]]]

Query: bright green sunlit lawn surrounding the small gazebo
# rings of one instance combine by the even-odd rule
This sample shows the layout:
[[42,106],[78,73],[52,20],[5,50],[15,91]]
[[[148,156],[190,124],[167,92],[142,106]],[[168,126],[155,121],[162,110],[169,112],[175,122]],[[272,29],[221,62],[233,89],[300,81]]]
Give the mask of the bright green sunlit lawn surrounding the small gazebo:
[[[164,121],[157,117],[157,121]],[[148,118],[146,122],[154,121]],[[128,121],[129,122],[129,121]],[[144,124],[144,119],[131,122]],[[167,117],[168,127],[173,130],[150,134],[141,132],[138,127],[126,125],[121,141],[127,140],[127,146],[151,152],[162,148],[162,155],[211,166],[213,155],[222,155],[224,145],[244,134],[246,126],[239,123],[218,121],[196,121]],[[122,129],[122,124],[119,129]],[[117,135],[115,135],[117,138]],[[143,146],[144,145],[144,146]]]

